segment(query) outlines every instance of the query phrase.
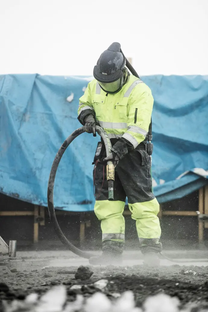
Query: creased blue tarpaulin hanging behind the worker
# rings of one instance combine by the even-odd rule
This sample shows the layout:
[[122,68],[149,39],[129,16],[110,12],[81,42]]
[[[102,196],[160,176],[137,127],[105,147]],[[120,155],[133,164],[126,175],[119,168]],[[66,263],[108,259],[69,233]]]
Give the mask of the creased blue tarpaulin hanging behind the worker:
[[[47,206],[47,183],[62,142],[80,127],[79,98],[92,77],[0,76],[0,192]],[[145,76],[152,90],[152,174],[159,202],[207,183],[208,76]],[[55,206],[90,211],[99,137],[81,134],[61,159]]]

